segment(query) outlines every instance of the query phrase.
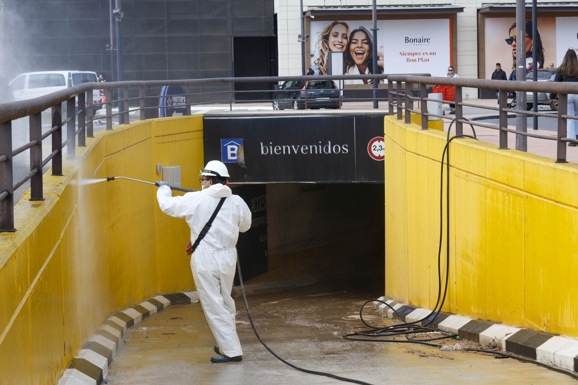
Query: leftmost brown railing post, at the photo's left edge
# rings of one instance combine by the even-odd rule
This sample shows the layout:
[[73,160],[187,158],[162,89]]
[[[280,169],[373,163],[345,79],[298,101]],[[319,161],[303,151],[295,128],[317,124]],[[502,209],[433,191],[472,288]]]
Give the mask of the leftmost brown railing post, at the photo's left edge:
[[[0,232],[16,231],[14,229],[14,194],[12,174],[12,121],[0,124]],[[3,199],[2,199],[3,196]]]

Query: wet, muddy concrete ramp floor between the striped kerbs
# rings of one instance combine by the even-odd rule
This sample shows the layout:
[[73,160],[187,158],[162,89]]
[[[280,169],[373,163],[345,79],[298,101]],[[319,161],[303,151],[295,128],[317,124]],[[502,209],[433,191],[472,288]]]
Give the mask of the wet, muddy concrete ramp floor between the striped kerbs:
[[[344,287],[357,288],[344,290]],[[380,291],[379,287],[346,284],[341,280],[280,293],[255,294],[248,300],[265,342],[282,357],[308,369],[376,385],[576,383],[564,374],[510,358],[498,360],[485,354],[441,352],[417,344],[342,339],[343,334],[361,326],[360,305],[377,297]],[[201,305],[175,305],[155,313],[124,335],[104,383],[346,384],[296,371],[278,361],[253,334],[243,299],[235,301],[244,353],[242,362],[209,362],[215,355],[215,342]],[[377,311],[368,309],[366,313],[372,322],[382,322]]]

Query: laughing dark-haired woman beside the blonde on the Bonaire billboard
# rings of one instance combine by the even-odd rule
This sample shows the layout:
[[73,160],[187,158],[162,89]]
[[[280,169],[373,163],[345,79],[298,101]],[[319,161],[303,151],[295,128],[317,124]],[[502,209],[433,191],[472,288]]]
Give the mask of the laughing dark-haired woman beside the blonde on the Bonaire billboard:
[[[373,73],[373,39],[364,27],[351,31],[343,64],[344,73],[347,75]],[[377,66],[377,73],[383,73],[382,66]],[[384,81],[380,80],[379,83]],[[372,80],[346,80],[345,84],[372,84]]]

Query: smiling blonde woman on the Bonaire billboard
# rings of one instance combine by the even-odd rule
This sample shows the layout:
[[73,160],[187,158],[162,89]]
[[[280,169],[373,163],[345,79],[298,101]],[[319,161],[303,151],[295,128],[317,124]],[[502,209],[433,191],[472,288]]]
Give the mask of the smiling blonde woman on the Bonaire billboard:
[[308,75],[327,75],[327,56],[329,52],[343,52],[349,40],[349,24],[344,21],[332,21],[318,33],[315,44],[317,57],[313,60]]

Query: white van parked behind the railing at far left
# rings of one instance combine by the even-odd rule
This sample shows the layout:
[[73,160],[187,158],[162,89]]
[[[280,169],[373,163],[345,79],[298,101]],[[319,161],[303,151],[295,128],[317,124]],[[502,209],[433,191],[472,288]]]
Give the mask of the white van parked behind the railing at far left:
[[[38,98],[38,96],[90,82],[97,82],[97,73],[89,71],[43,71],[20,74],[9,85],[14,100],[18,101]],[[101,102],[99,89],[92,91],[92,102]],[[92,107],[93,114],[101,108],[102,106]]]

